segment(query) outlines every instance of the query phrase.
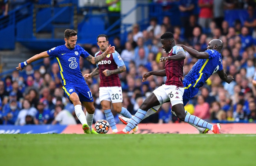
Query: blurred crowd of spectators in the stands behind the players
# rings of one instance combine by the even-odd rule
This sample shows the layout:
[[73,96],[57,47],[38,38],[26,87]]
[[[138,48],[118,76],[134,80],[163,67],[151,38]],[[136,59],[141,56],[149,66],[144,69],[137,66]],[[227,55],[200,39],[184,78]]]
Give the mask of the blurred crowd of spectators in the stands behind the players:
[[[219,7],[219,1],[224,8]],[[189,101],[185,109],[192,115],[209,121],[252,122],[256,120],[256,15],[254,1],[238,4],[228,0],[180,0],[182,25],[172,26],[171,19],[151,18],[149,26],[140,29],[139,24],[132,26],[124,45],[120,38],[114,38],[116,51],[125,62],[127,71],[120,73],[123,90],[123,107],[135,114],[143,100],[158,86],[165,83],[165,77],[150,76],[142,82],[144,73],[163,70],[165,62],[160,62],[167,53],[162,49],[160,36],[166,31],[174,34],[176,44],[184,44],[198,51],[205,51],[212,39],[223,41],[222,64],[224,71],[235,78],[227,84],[217,74],[213,74]],[[160,2],[161,1],[156,1]],[[207,2],[207,3],[206,3]],[[217,3],[218,2],[218,3]],[[244,8],[248,18],[234,20],[231,25],[224,20],[224,9]],[[199,8],[196,13],[195,9]],[[239,14],[239,13],[238,13]],[[207,24],[205,24],[207,23]],[[79,41],[78,41],[79,42]],[[98,46],[85,48],[91,55],[99,51]],[[197,59],[186,52],[184,75],[190,71]],[[95,69],[84,59],[80,59],[82,74]],[[94,97],[94,121],[105,119],[99,102],[99,75],[86,80]],[[64,95],[58,63],[44,58],[39,70],[29,64],[24,72],[14,71],[0,81],[0,123],[1,124],[74,124],[79,123],[74,114],[74,106]],[[85,109],[84,109],[85,110]],[[86,111],[86,110],[85,110]],[[70,114],[73,115],[70,118]],[[118,123],[118,115],[113,111]],[[68,119],[69,118],[69,119]],[[63,120],[67,119],[67,120]],[[65,122],[66,121],[66,122]],[[171,115],[170,103],[165,103],[154,115],[142,123],[179,123]]]

